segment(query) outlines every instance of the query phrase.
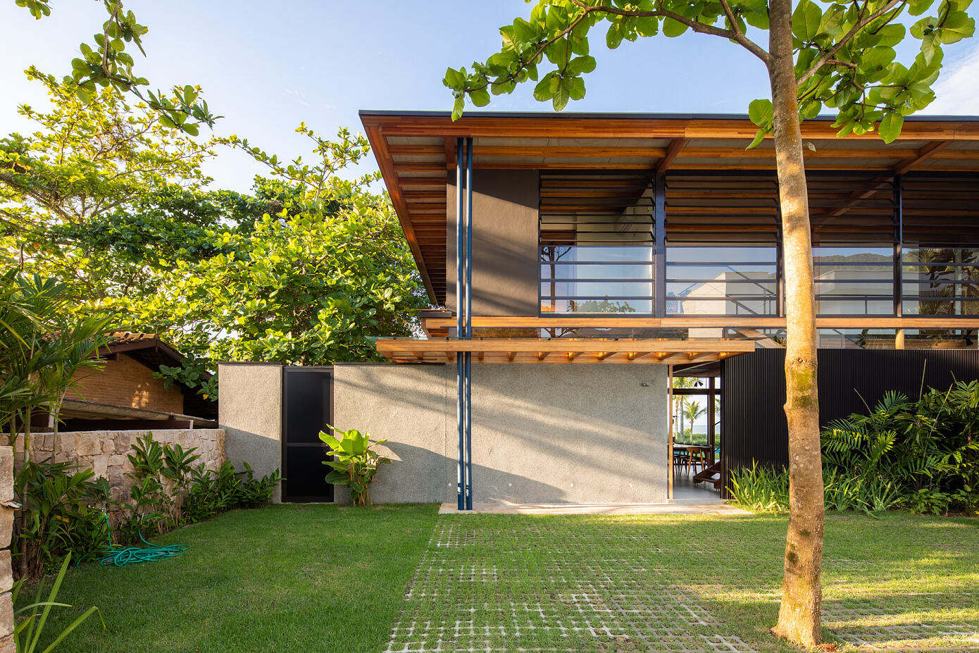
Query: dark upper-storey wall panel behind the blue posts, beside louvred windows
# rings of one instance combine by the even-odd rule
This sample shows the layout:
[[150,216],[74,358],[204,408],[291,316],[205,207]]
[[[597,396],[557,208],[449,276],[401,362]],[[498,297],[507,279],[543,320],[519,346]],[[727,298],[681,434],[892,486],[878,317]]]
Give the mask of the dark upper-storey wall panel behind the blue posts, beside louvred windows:
[[[473,314],[536,315],[536,170],[473,171]],[[455,307],[455,175],[446,184],[445,305]]]

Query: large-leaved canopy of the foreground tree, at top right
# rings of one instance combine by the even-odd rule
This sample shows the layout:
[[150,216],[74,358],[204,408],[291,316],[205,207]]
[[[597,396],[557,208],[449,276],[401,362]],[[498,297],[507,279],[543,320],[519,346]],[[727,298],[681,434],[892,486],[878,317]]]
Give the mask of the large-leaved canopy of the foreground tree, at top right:
[[[932,84],[942,65],[943,45],[971,36],[975,20],[966,14],[970,0],[801,0],[792,13],[792,51],[801,117],[831,110],[839,133],[865,133],[879,122],[886,142],[901,132],[904,117],[935,99]],[[918,19],[908,29],[899,19]],[[455,97],[452,115],[477,107],[490,95],[512,93],[534,81],[534,97],[555,111],[584,97],[584,74],[597,62],[589,54],[592,28],[604,24],[605,43],[618,48],[641,36],[676,37],[685,32],[720,36],[740,45],[766,65],[769,50],[758,38],[769,29],[766,0],[545,0],[530,19],[500,27],[502,44],[485,62],[445,71],[443,83]],[[908,33],[920,40],[913,61],[897,61],[895,46]],[[751,104],[760,142],[772,129],[770,99]]]

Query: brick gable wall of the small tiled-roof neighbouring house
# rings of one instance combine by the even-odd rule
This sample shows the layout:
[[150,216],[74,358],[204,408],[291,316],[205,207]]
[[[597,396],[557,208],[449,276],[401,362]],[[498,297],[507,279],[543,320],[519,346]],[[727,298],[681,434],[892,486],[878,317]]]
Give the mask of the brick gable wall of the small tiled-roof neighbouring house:
[[153,378],[152,369],[124,353],[115,360],[107,360],[101,371],[78,370],[74,378],[78,385],[68,391],[72,398],[114,406],[184,412],[183,394],[178,386],[166,388],[163,379]]

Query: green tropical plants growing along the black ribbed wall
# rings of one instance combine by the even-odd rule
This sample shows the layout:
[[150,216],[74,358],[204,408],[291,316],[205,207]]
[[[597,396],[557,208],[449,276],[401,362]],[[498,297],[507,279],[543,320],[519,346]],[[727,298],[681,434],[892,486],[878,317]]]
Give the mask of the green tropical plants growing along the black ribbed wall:
[[[929,389],[916,401],[887,393],[866,414],[822,431],[827,510],[872,515],[897,507],[922,514],[979,513],[979,382]],[[788,509],[788,476],[733,470],[731,496],[758,511]]]

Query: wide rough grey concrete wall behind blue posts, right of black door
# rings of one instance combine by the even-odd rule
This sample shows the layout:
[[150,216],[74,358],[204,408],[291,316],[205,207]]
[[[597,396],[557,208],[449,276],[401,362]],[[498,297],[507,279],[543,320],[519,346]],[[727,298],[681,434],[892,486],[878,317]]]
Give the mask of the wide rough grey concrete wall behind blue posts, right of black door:
[[[454,365],[338,364],[335,377],[337,426],[391,441],[374,500],[454,500]],[[665,366],[474,364],[474,499],[664,501],[667,419]]]

